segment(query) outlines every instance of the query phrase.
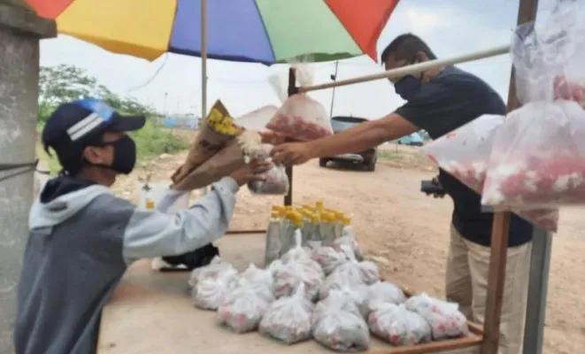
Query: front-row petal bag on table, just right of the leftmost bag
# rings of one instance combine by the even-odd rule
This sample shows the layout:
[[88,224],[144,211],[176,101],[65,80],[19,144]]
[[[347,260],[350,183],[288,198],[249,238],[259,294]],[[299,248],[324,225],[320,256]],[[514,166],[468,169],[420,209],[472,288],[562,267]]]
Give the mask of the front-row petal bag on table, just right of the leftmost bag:
[[226,303],[218,309],[217,320],[235,333],[246,333],[258,328],[258,324],[274,298],[266,286],[254,286],[240,280]]

